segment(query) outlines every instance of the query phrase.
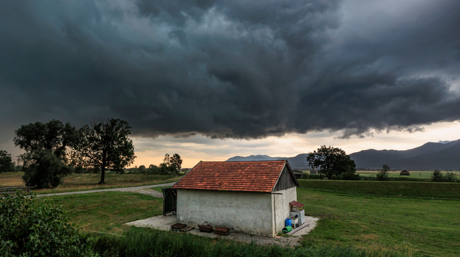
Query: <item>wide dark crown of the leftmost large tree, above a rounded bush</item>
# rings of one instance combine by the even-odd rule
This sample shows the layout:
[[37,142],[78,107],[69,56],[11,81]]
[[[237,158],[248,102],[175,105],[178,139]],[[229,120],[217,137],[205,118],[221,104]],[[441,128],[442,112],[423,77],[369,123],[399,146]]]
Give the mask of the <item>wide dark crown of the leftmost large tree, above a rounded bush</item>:
[[54,119],[48,123],[36,122],[22,125],[15,133],[13,139],[15,146],[24,149],[26,153],[49,150],[64,162],[66,162],[67,148],[75,147],[79,141],[75,126]]

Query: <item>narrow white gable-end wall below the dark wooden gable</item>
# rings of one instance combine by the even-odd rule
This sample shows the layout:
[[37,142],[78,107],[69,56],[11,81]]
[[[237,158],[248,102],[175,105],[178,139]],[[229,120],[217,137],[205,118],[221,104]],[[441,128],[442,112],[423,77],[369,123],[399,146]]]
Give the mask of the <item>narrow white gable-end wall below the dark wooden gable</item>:
[[275,193],[277,194],[272,194],[273,210],[275,212],[273,215],[273,236],[284,228],[284,221],[289,217],[289,203],[297,201],[297,188],[289,188]]

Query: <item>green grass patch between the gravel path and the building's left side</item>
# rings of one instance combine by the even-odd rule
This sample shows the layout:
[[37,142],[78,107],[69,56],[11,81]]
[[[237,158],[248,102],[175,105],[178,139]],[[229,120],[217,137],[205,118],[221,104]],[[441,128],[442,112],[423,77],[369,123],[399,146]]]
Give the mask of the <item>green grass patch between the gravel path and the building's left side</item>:
[[162,199],[131,192],[99,192],[49,197],[63,204],[84,231],[123,233],[126,222],[162,214]]

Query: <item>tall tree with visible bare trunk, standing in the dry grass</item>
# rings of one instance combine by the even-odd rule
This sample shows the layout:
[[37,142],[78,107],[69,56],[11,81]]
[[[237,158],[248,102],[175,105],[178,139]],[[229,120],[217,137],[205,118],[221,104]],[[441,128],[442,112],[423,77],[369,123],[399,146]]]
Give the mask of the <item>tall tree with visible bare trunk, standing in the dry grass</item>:
[[100,182],[105,183],[105,169],[123,173],[136,158],[131,127],[123,119],[101,119],[79,129],[80,142],[75,149],[75,165],[100,169]]

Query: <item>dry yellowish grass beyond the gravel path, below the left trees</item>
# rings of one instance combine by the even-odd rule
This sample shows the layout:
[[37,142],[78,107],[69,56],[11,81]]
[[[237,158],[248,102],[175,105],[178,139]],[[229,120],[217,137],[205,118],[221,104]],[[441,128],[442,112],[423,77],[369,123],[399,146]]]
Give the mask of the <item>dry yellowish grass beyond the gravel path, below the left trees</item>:
[[[0,174],[0,185],[24,185],[22,172]],[[36,190],[37,194],[54,192],[73,192],[105,188],[126,188],[138,185],[155,185],[176,182],[180,176],[141,175],[141,174],[105,174],[105,184],[99,185],[100,174],[70,174],[63,178],[63,183],[54,189]]]

